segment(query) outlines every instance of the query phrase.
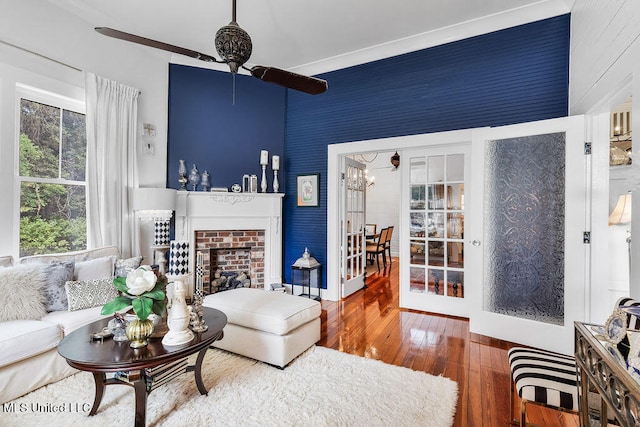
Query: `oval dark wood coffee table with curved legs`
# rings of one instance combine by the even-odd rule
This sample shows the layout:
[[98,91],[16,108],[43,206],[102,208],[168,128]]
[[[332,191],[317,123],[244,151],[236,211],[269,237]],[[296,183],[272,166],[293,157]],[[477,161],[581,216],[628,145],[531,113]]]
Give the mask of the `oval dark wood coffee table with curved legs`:
[[[184,359],[198,353],[195,365],[186,366],[183,372],[193,371],[200,394],[207,394],[202,382],[202,360],[211,344],[223,337],[222,329],[227,324],[227,316],[216,309],[203,308],[204,321],[209,329],[194,333],[195,338],[188,344],[177,347],[165,347],[162,339],[150,339],[146,347],[133,349],[129,341],[117,342],[111,338],[94,341],[90,335],[102,330],[111,318],[98,320],[83,326],[64,337],[58,344],[58,353],[67,363],[81,371],[93,373],[96,394],[89,415],[95,415],[102,401],[105,387],[111,384],[126,384],[133,387],[136,397],[135,425],[144,426],[147,411],[147,395],[152,388],[148,387],[150,377],[148,369]],[[168,365],[169,366],[169,365]],[[109,372],[122,372],[128,381],[118,378],[107,378]]]

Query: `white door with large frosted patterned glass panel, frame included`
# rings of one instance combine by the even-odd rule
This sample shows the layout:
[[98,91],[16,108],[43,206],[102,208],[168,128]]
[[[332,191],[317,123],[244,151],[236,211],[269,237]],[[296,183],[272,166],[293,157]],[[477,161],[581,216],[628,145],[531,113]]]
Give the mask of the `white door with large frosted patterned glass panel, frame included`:
[[588,307],[584,120],[479,129],[472,147],[470,331],[571,354]]

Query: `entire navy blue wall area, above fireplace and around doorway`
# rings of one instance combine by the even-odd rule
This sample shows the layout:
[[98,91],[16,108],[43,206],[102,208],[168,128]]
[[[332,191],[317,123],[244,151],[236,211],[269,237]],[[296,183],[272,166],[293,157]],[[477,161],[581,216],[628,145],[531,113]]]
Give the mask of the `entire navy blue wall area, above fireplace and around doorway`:
[[[229,74],[171,65],[167,184],[180,158],[230,186],[259,173],[260,149],[283,154],[284,280],[305,246],[326,268],[327,146],[565,116],[569,24],[563,15],[326,73],[317,96],[238,76],[235,107]],[[307,173],[320,173],[317,208],[296,206]]]

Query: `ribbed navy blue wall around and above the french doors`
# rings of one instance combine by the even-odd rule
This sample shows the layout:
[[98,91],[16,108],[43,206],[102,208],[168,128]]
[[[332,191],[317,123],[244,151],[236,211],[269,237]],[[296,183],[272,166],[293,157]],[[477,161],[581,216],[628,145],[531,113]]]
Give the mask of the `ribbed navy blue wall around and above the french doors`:
[[[290,91],[285,280],[308,246],[326,288],[329,144],[566,116],[569,24],[563,15],[326,73],[318,96]],[[304,173],[320,173],[319,208],[296,206],[294,178]]]

